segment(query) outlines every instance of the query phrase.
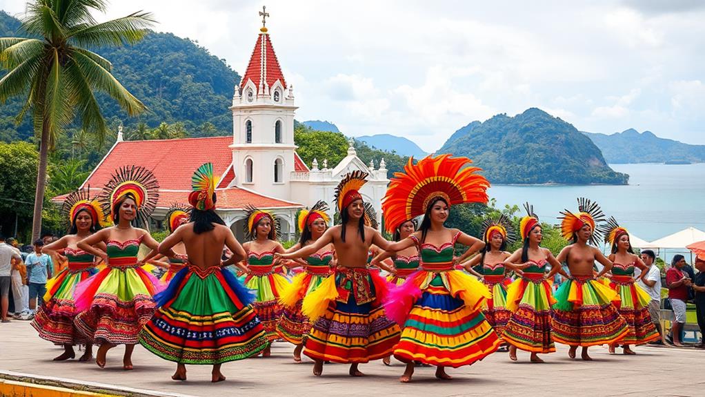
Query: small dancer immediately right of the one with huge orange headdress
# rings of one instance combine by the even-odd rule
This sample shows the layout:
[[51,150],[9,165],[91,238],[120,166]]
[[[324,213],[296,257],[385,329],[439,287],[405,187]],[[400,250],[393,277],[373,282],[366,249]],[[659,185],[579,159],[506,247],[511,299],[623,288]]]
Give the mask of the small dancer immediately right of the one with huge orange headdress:
[[[510,256],[510,253],[506,252],[507,245],[513,243],[516,238],[511,222],[504,214],[496,219],[485,219],[482,222],[482,229],[484,248],[480,250],[480,255],[475,255],[463,263],[462,267],[470,274],[479,276],[492,294],[492,298],[487,300],[487,305],[482,312],[501,338],[512,314],[507,309],[507,286],[512,280],[507,276],[508,268],[503,262]],[[479,272],[474,270],[478,265]],[[506,344],[502,347],[503,350],[500,351],[507,351]]]

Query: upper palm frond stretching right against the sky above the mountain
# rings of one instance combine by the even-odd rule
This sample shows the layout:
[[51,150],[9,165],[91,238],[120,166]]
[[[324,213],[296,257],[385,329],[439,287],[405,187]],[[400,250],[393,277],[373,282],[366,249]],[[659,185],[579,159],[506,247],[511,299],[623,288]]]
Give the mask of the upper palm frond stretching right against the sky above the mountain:
[[156,20],[152,13],[136,12],[97,25],[80,26],[68,32],[67,39],[83,47],[133,44],[147,34]]

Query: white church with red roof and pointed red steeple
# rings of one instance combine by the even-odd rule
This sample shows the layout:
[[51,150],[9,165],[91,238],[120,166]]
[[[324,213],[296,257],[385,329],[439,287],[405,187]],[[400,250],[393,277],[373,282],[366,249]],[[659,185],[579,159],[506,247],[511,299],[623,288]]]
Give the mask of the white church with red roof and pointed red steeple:
[[352,142],[340,164],[314,159],[309,166],[296,153],[294,117],[298,108],[293,85],[284,78],[264,19],[262,22],[245,75],[235,86],[230,107],[232,136],[129,141],[123,139],[120,128],[115,144],[81,187],[90,187],[91,193],[97,194],[119,167],[144,166],[159,180],[159,202],[151,225],[159,228],[171,204],[188,203],[193,171],[210,161],[219,176],[217,211],[238,240],[244,240],[248,204],[273,212],[281,221],[281,239],[289,240],[295,237],[296,213],[318,200],[329,204],[332,222],[336,185],[346,173],[360,170],[369,173],[361,193],[373,204],[380,221],[381,199],[389,182],[384,159],[379,159],[377,169],[373,162],[364,164]]

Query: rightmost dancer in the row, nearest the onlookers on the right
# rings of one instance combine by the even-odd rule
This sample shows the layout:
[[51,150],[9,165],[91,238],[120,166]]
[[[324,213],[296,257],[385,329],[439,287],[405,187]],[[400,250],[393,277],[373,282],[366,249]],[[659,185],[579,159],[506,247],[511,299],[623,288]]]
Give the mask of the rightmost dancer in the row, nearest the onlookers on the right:
[[[639,279],[634,277],[635,267],[638,267],[644,276],[646,276],[647,267],[642,262],[642,258],[632,251],[627,229],[620,227],[613,217],[608,219],[602,232],[605,235],[605,243],[612,248],[612,253],[608,257],[614,264],[610,287],[619,293],[619,314],[625,319],[629,329],[629,334],[620,341],[620,344],[624,354],[637,354],[630,349],[630,345],[642,345],[660,338],[649,314],[651,296],[635,283]],[[609,350],[610,353],[614,353],[615,344],[611,344]]]

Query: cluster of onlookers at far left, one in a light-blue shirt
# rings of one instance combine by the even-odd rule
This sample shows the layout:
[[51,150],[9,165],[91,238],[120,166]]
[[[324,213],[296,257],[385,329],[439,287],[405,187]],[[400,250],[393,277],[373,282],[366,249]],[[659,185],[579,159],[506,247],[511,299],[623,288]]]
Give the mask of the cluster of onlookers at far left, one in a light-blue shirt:
[[47,292],[47,280],[56,269],[54,260],[42,253],[44,244],[56,240],[42,236],[32,245],[20,246],[14,238],[0,236],[0,321],[34,317]]

